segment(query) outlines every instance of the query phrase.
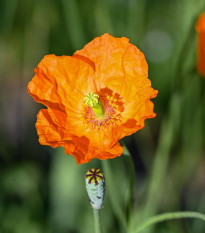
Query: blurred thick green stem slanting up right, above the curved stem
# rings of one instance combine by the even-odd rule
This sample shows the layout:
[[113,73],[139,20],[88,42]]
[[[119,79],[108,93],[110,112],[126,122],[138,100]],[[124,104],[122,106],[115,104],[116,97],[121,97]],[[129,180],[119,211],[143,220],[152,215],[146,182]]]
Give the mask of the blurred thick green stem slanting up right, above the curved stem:
[[[147,191],[147,201],[143,209],[141,219],[147,219],[155,214],[162,193],[160,192],[161,185],[165,182],[169,155],[173,141],[176,135],[178,119],[180,117],[181,98],[176,94],[172,97],[170,103],[169,117],[164,118],[160,131],[160,138],[153,168],[150,174],[150,183]],[[140,220],[141,220],[140,219]]]

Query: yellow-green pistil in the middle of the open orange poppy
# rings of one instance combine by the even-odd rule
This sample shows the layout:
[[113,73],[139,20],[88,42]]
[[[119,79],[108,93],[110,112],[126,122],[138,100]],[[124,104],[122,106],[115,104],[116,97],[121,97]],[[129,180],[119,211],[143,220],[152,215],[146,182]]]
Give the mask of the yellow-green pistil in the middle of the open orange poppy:
[[92,108],[95,115],[99,118],[104,116],[104,109],[99,95],[91,92],[85,96],[85,104]]

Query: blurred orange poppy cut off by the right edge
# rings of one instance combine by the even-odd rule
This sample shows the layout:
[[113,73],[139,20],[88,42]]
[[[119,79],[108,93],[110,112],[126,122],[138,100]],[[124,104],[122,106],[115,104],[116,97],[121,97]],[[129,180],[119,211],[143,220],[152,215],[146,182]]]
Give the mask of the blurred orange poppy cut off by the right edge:
[[205,77],[205,13],[199,17],[196,31],[198,33],[197,69]]

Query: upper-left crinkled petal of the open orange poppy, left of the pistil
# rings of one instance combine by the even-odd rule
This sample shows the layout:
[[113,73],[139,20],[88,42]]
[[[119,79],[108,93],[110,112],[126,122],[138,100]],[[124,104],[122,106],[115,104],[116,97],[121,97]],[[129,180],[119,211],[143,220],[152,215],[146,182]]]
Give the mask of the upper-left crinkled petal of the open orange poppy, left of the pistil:
[[96,90],[92,66],[70,56],[45,56],[35,73],[28,92],[47,107],[79,111],[84,96]]

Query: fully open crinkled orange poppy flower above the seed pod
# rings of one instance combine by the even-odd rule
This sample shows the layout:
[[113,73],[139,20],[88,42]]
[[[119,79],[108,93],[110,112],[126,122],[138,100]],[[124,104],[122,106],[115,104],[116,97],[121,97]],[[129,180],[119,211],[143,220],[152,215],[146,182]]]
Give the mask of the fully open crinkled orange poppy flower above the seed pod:
[[35,74],[28,92],[47,107],[37,116],[39,142],[63,146],[78,164],[120,156],[119,140],[156,115],[147,62],[125,37],[104,34],[73,56],[45,56]]

